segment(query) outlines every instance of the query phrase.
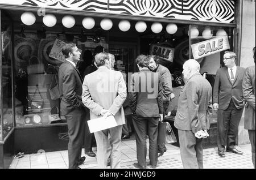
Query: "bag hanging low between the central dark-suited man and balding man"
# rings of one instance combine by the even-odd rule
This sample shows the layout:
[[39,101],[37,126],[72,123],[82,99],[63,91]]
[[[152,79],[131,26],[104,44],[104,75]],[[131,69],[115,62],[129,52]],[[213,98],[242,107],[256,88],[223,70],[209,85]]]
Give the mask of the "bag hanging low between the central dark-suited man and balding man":
[[176,143],[176,136],[170,123],[159,122],[158,124],[158,144]]

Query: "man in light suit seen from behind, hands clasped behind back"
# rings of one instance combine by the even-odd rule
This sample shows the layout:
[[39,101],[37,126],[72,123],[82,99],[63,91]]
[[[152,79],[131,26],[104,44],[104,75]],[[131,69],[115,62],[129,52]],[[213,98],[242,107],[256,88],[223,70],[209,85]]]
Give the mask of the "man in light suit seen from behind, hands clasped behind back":
[[110,135],[110,168],[120,168],[121,164],[121,134],[125,123],[122,104],[126,98],[126,84],[119,71],[111,70],[112,63],[108,53],[98,53],[95,56],[98,70],[85,76],[82,84],[82,102],[90,109],[90,118],[108,117],[114,115],[116,127],[94,132],[97,144],[98,168],[108,167],[108,151]]

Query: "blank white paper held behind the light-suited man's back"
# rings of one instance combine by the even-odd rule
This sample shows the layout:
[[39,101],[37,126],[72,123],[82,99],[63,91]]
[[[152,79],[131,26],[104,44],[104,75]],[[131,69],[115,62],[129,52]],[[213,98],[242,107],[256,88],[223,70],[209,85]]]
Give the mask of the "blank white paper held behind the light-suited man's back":
[[90,133],[102,131],[107,128],[112,128],[117,126],[117,122],[113,115],[108,116],[106,119],[104,117],[97,119],[90,119],[88,122]]

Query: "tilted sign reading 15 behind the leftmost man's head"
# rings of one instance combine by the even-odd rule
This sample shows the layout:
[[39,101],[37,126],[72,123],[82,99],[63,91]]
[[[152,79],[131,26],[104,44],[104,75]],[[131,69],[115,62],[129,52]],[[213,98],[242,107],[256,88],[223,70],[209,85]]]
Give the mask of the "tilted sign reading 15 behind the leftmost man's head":
[[53,46],[52,46],[52,49],[51,49],[51,52],[49,53],[49,57],[51,58],[54,58],[54,59],[57,59],[61,62],[64,62],[65,61],[65,57],[64,55],[62,54],[61,52],[61,48],[65,45],[66,43],[57,39],[55,40]]

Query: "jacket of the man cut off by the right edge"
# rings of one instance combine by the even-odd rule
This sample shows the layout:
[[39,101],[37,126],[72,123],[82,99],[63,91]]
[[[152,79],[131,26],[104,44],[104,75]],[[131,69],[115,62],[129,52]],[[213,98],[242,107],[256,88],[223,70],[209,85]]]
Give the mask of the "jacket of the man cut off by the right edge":
[[255,130],[255,66],[247,67],[243,76],[243,98],[245,98],[245,129]]

